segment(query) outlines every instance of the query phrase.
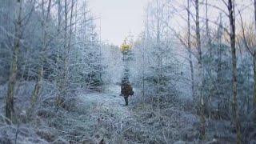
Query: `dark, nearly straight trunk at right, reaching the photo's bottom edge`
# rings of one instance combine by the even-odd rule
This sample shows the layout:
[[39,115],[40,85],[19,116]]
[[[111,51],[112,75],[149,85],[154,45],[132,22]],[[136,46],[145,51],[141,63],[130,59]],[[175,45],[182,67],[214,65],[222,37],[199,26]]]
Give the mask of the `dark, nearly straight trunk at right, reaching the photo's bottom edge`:
[[228,2],[229,19],[230,19],[230,46],[232,53],[232,88],[233,88],[233,109],[234,109],[234,121],[237,133],[237,143],[242,143],[242,134],[240,131],[239,122],[239,110],[238,110],[238,70],[237,70],[237,58],[235,49],[235,19],[234,19],[234,0]]

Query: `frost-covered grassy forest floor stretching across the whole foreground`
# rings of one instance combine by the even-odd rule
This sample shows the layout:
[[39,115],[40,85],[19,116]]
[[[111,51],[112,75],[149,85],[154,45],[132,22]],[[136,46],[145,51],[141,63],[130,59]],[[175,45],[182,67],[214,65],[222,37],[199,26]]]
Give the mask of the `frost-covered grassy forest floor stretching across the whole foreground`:
[[[36,110],[34,121],[21,123],[19,129],[17,125],[0,122],[0,143],[14,143],[16,137],[17,143],[200,143],[199,119],[188,102],[169,102],[156,110],[152,103],[141,101],[138,91],[134,91],[129,106],[125,106],[124,98],[119,95],[118,85],[107,86],[102,92],[78,91],[72,110],[56,111],[54,105],[46,102]],[[22,103],[19,101],[16,106]],[[208,125],[212,125],[208,142],[215,141],[212,139],[215,135],[220,139],[233,138],[230,129],[225,128],[228,123],[213,121]],[[213,129],[216,126],[222,133]]]

